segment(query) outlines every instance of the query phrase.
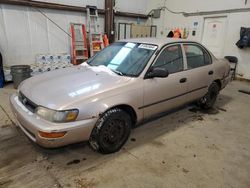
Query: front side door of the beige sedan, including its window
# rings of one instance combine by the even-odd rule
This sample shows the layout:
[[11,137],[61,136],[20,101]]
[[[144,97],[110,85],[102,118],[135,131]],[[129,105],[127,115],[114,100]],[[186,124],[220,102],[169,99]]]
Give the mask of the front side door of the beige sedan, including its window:
[[152,67],[163,67],[169,72],[166,78],[144,80],[144,118],[164,112],[186,102],[187,82],[182,47],[174,44],[165,47]]

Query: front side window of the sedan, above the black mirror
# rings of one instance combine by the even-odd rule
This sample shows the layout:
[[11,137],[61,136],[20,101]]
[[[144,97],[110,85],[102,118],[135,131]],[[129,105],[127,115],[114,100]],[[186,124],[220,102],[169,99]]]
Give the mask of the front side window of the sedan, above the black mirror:
[[161,67],[168,70],[169,74],[183,70],[183,56],[180,45],[166,47],[153,67]]

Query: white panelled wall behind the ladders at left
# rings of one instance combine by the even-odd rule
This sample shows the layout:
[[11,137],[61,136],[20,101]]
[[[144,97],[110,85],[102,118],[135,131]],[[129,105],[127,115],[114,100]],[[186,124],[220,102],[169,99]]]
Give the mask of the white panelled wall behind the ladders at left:
[[[38,0],[39,1],[39,0]],[[74,6],[95,5],[104,9],[104,0],[46,0]],[[143,3],[144,2],[144,3]],[[116,9],[147,14],[148,0],[116,0]],[[86,23],[84,13],[41,9],[65,31],[70,33],[70,23]],[[115,18],[118,22],[136,23],[137,19]],[[142,21],[143,22],[143,21]],[[143,22],[144,23],[144,22]],[[104,16],[100,16],[100,25],[104,31]],[[70,37],[51,23],[36,9],[23,6],[0,4],[0,51],[4,65],[35,63],[39,54],[70,53]]]

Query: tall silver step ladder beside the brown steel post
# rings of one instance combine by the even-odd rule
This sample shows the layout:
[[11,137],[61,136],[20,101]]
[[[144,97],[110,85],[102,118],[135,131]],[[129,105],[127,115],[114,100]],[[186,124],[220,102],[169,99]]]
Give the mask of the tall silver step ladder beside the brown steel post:
[[99,16],[96,6],[86,6],[87,8],[87,32],[89,39],[90,56],[104,48],[103,37],[100,31]]

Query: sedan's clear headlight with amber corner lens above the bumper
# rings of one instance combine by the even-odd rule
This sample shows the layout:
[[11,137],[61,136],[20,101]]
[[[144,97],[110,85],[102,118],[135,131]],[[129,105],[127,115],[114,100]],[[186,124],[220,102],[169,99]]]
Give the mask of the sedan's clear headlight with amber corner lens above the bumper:
[[48,121],[63,123],[75,121],[78,115],[77,109],[56,111],[42,106],[36,108],[36,114]]

